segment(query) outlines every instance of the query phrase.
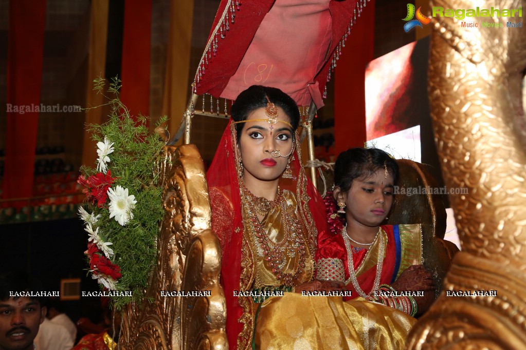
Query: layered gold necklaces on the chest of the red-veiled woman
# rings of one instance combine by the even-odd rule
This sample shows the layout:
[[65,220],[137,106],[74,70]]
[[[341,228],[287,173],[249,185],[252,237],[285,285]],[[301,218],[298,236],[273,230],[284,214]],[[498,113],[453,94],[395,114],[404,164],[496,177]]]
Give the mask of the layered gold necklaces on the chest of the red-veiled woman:
[[[275,200],[254,196],[245,186],[241,185],[242,205],[248,215],[247,229],[253,232],[258,244],[258,253],[267,262],[272,274],[280,280],[281,284],[293,285],[299,273],[305,269],[305,242],[301,234],[301,225],[296,216],[295,209],[287,205],[284,195],[278,187]],[[281,227],[284,236],[279,242],[274,242],[258,219],[257,214],[266,217],[271,210],[280,210]],[[287,259],[298,258],[294,272],[286,273]]]

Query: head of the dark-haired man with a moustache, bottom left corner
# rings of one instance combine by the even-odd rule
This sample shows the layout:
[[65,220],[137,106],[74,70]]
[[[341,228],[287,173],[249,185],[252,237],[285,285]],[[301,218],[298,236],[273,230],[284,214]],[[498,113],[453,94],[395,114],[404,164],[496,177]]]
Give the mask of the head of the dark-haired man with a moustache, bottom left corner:
[[0,274],[0,350],[33,350],[46,315],[40,298],[11,293],[40,292],[42,286],[24,272]]

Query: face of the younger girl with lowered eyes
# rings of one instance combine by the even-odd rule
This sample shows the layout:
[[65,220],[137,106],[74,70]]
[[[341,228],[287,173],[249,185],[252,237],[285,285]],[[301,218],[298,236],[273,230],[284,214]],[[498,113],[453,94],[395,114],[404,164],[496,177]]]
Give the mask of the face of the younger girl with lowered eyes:
[[357,178],[347,192],[335,188],[335,199],[345,203],[347,223],[375,227],[387,217],[393,202],[393,178],[383,169],[367,178]]

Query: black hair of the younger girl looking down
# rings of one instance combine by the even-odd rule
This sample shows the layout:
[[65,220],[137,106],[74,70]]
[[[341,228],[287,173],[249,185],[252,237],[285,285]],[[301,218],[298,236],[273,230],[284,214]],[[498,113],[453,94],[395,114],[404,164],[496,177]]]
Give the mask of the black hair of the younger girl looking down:
[[340,153],[334,166],[334,184],[342,192],[347,192],[356,178],[367,178],[377,171],[388,172],[396,184],[398,180],[398,164],[386,152],[379,149],[349,149]]

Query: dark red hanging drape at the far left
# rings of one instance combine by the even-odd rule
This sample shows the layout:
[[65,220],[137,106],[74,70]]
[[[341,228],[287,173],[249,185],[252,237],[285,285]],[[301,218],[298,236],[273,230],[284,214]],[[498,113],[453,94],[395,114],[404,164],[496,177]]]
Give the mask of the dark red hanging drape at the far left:
[[9,2],[4,198],[33,192],[38,112],[25,108],[40,105],[45,20],[45,0]]

